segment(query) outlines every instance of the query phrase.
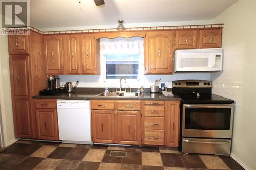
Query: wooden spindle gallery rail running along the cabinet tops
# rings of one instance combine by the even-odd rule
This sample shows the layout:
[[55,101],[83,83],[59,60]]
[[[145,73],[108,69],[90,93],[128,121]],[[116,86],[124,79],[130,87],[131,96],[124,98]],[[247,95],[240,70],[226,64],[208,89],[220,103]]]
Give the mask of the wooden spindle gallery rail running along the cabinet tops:
[[[149,30],[169,30],[169,29],[198,29],[198,28],[218,28],[223,27],[224,23],[215,23],[207,25],[183,25],[183,26],[154,26],[154,27],[130,27],[124,31],[149,31]],[[29,26],[29,29],[41,34],[69,34],[69,33],[98,33],[98,32],[116,32],[116,28],[109,29],[85,29],[85,30],[63,30],[63,31],[40,31]]]

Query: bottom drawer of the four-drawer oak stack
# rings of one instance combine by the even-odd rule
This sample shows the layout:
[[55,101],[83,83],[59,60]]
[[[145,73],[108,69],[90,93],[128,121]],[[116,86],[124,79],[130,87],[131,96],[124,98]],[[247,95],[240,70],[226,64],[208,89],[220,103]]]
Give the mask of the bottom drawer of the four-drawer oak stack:
[[145,130],[144,143],[148,145],[163,145],[164,131],[163,130]]

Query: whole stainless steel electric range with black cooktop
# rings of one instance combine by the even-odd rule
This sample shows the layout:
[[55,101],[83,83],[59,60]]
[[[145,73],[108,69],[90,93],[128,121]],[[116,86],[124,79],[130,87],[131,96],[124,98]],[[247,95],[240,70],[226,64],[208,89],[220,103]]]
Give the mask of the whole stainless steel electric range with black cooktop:
[[229,155],[233,100],[211,93],[206,80],[173,81],[181,101],[180,150],[183,153]]

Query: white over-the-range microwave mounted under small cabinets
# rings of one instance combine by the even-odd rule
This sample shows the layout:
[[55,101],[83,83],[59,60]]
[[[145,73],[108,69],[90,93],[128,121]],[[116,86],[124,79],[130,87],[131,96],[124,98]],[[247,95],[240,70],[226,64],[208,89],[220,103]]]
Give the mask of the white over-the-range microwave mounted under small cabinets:
[[175,72],[222,70],[222,48],[175,50],[174,56]]

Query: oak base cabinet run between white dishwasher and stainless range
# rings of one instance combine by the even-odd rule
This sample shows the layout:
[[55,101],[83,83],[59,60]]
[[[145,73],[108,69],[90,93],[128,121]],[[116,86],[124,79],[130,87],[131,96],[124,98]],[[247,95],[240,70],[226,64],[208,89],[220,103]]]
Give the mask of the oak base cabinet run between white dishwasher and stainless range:
[[179,145],[180,101],[91,100],[91,108],[93,142]]

